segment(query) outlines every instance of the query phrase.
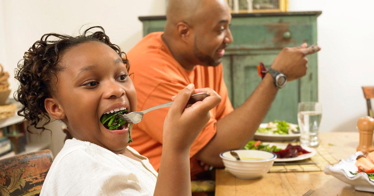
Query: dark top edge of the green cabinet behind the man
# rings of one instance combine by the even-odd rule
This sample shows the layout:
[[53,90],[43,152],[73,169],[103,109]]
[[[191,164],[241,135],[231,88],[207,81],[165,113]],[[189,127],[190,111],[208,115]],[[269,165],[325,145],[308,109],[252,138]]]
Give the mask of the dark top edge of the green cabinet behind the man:
[[[261,16],[319,16],[322,11],[308,11],[308,12],[267,12],[267,13],[232,13],[233,18],[241,17],[261,17]],[[139,16],[140,21],[151,20],[165,20],[165,15],[159,16]]]

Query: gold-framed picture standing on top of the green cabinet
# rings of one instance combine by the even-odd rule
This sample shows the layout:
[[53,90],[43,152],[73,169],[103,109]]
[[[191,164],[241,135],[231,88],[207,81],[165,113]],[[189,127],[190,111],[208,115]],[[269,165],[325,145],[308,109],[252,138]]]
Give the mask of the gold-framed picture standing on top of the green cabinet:
[[288,12],[288,0],[227,0],[227,3],[232,13]]

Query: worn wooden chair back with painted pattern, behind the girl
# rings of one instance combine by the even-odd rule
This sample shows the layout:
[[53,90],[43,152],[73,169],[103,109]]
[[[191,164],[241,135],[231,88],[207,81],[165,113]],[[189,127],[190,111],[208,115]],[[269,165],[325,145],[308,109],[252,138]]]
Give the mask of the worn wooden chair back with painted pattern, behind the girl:
[[50,150],[0,159],[0,195],[38,195],[52,161]]

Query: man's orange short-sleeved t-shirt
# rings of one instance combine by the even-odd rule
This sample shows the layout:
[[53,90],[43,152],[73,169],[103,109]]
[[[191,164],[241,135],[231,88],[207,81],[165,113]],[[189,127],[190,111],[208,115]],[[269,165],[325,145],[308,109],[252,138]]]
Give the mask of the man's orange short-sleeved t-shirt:
[[[215,123],[233,111],[223,80],[222,64],[217,67],[196,65],[187,71],[174,59],[168,47],[161,39],[163,32],[145,36],[128,53],[130,73],[134,73],[134,85],[138,95],[138,111],[171,101],[173,95],[194,83],[195,88],[214,89],[222,101],[211,110],[208,125],[200,132],[192,144],[190,152],[191,175],[203,169],[193,156],[202,149],[216,133]],[[158,171],[162,153],[163,122],[169,108],[151,111],[144,115],[139,124],[135,124],[131,133],[134,142],[130,144],[140,154],[148,157],[154,169]]]

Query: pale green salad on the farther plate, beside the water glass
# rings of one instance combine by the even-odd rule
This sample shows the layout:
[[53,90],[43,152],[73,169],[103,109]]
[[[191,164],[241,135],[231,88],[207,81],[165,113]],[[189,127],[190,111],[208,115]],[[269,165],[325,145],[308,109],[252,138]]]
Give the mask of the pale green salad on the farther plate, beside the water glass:
[[300,128],[299,126],[288,123],[285,120],[274,120],[274,122],[267,123],[267,126],[265,128],[259,127],[256,132],[264,134],[284,135],[298,133],[300,132]]

